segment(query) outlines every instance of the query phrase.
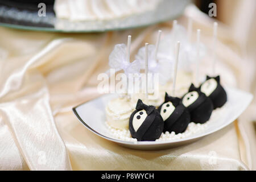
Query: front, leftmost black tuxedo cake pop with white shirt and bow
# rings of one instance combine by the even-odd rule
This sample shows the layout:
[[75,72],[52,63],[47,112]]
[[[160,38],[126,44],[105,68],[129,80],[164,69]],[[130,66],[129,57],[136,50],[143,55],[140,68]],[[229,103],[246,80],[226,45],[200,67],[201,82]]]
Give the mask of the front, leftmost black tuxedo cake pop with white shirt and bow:
[[155,141],[163,132],[164,122],[154,106],[143,104],[138,100],[136,110],[129,119],[131,137],[138,141]]

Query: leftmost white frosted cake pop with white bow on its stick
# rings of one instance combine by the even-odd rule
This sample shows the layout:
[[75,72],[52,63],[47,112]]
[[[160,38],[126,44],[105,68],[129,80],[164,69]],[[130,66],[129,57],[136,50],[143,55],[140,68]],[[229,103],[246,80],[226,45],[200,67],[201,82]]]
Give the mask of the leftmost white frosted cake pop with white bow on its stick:
[[[109,66],[115,71],[123,70],[128,77],[129,73],[139,73],[141,64],[135,60],[130,63],[131,36],[128,36],[127,46],[125,44],[115,45],[109,55]],[[127,94],[119,96],[110,101],[106,106],[106,122],[115,129],[128,129],[129,118],[134,111],[136,104],[131,102]]]

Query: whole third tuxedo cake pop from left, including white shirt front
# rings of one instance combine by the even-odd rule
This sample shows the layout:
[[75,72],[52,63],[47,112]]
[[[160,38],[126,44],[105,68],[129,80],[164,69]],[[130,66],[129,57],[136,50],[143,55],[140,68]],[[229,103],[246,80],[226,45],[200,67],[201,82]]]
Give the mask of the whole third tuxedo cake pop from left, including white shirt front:
[[213,111],[210,98],[200,92],[200,89],[193,84],[191,84],[188,93],[181,99],[181,103],[188,108],[191,121],[195,123],[207,122]]

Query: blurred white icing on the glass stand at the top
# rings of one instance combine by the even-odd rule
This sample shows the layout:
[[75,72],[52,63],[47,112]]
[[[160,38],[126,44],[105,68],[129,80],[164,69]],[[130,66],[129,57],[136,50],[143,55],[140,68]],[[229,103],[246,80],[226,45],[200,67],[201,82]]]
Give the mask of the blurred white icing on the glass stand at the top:
[[55,0],[57,18],[106,20],[154,10],[161,0]]

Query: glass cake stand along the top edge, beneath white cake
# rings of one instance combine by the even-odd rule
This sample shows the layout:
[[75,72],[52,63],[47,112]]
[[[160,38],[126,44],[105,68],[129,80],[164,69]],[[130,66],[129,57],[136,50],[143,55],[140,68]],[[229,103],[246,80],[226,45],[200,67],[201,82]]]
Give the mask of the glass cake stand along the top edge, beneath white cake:
[[111,20],[88,20],[71,22],[58,19],[53,4],[46,5],[46,16],[38,16],[39,8],[23,3],[0,1],[0,26],[34,31],[53,32],[104,32],[148,26],[177,18],[183,13],[190,0],[162,0],[154,11],[134,14]]

